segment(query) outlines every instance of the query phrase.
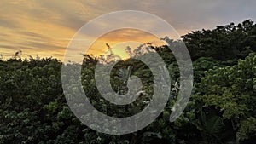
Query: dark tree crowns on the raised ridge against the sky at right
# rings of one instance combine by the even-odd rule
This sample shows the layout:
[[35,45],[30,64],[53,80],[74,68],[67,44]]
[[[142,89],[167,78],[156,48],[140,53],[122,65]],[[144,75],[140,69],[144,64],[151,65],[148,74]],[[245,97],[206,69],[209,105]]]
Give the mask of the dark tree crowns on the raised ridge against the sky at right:
[[212,57],[216,60],[245,58],[250,52],[256,52],[256,25],[245,20],[235,26],[217,26],[213,30],[195,31],[182,36],[189,49],[192,60]]

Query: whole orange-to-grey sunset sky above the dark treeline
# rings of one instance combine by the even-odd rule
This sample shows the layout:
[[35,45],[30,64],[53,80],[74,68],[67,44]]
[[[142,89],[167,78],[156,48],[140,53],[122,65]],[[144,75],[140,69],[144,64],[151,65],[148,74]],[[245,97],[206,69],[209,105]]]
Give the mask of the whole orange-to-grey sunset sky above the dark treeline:
[[[114,11],[139,10],[155,14],[166,20],[179,35],[184,35],[230,22],[255,21],[255,5],[255,0],[1,0],[0,54],[3,59],[8,59],[21,50],[22,57],[53,56],[63,60],[68,44],[82,26]],[[131,17],[131,21],[137,19]],[[158,27],[155,21],[149,24]],[[118,24],[112,21],[102,23],[98,28],[109,25]],[[147,42],[161,44],[159,37],[151,33],[125,29],[102,34],[88,52],[94,55],[105,53],[108,43],[121,54],[119,49],[124,50],[129,44],[125,43],[127,41],[137,42],[130,43],[132,47]]]

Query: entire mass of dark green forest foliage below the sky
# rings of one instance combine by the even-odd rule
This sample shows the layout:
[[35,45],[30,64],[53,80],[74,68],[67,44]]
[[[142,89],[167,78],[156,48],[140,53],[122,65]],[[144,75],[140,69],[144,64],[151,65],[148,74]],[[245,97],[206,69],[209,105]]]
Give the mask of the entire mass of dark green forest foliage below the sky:
[[[173,123],[169,117],[179,90],[177,61],[167,46],[150,46],[166,62],[172,78],[172,99],[152,124],[127,135],[106,135],[81,124],[63,95],[60,61],[39,57],[21,60],[20,55],[0,60],[0,143],[253,144],[256,141],[256,55],[251,52],[256,50],[255,36],[251,20],[183,36],[193,59],[195,89],[183,115]],[[181,42],[172,40],[171,43],[178,46]],[[152,52],[141,50],[137,49],[134,55]],[[130,55],[133,55],[131,51]],[[154,93],[154,77],[148,66],[129,59],[113,67],[110,81],[117,93],[127,92],[127,79],[131,76],[142,79],[145,92],[130,105],[116,106],[105,101],[96,88],[97,60],[84,55],[81,72],[84,92],[92,105],[113,117],[141,112]]]

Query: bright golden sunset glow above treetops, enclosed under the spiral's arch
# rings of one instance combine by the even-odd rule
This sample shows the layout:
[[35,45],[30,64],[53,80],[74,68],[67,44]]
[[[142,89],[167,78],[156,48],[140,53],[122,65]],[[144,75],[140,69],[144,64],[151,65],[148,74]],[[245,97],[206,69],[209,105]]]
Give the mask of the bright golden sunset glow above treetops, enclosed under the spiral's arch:
[[165,43],[160,40],[160,37],[155,37],[149,32],[143,32],[137,29],[125,28],[108,32],[102,37],[96,39],[94,43],[90,45],[90,48],[86,54],[92,54],[95,56],[106,55],[108,53],[108,47],[106,43],[110,45],[115,55],[119,55],[122,59],[129,57],[125,53],[127,46],[131,49],[137,49],[142,43],[152,43],[153,46],[164,45]]

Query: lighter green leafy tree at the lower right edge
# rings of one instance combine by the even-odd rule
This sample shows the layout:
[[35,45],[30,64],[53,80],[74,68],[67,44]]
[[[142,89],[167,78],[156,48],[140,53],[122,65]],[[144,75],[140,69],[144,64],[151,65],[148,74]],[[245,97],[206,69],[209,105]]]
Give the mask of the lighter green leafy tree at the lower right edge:
[[[226,122],[230,122],[236,133],[236,141],[250,139],[255,134],[255,77],[256,55],[252,53],[245,60],[238,60],[235,66],[226,66],[206,72],[198,85],[195,100],[202,107],[214,107]],[[248,129],[252,124],[253,129]],[[253,137],[252,137],[253,138]]]

